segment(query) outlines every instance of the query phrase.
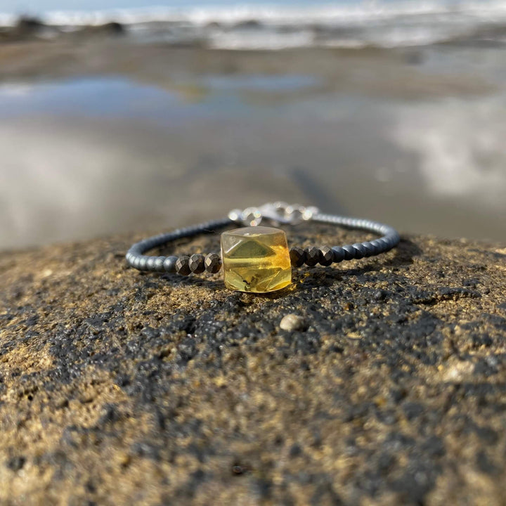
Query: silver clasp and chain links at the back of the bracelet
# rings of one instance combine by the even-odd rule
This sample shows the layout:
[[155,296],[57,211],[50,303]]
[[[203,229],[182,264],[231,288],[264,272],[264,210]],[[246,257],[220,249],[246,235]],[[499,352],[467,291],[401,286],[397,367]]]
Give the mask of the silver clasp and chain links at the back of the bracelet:
[[318,212],[318,208],[313,206],[273,202],[260,207],[247,207],[244,211],[234,209],[228,213],[228,218],[245,226],[259,226],[262,219],[268,219],[276,224],[296,225],[311,220]]

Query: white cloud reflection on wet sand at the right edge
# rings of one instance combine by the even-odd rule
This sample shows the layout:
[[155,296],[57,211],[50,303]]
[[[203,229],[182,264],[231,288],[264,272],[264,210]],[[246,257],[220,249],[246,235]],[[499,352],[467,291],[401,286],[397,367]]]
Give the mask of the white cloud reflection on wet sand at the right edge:
[[504,98],[492,97],[404,108],[393,138],[420,156],[420,172],[434,195],[500,208],[506,188],[503,105]]

